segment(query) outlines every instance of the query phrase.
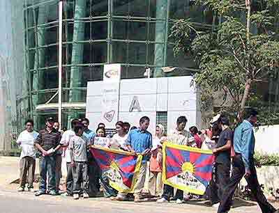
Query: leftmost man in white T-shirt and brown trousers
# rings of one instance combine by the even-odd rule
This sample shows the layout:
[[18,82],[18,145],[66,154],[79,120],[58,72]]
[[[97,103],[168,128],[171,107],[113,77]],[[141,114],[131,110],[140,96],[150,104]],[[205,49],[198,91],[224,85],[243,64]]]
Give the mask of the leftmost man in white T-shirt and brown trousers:
[[[25,122],[25,130],[18,136],[17,144],[22,148],[20,154],[20,187],[18,191],[24,191],[25,184],[28,182],[28,191],[33,191],[33,181],[36,168],[36,151],[34,141],[38,132],[33,131],[33,120]],[[27,177],[28,173],[28,177]],[[28,180],[28,181],[27,181]]]

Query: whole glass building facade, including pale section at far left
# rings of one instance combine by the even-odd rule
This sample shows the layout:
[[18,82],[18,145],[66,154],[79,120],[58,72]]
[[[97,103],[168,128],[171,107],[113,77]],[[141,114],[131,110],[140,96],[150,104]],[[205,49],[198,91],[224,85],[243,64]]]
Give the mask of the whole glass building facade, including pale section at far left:
[[[0,1],[0,139],[10,141],[26,118],[36,128],[57,118],[59,0]],[[88,81],[102,81],[105,64],[121,63],[121,79],[193,74],[190,55],[174,56],[169,38],[174,19],[198,29],[222,21],[195,0],[64,0],[62,127],[85,116]],[[175,67],[165,73],[162,68]],[[265,102],[279,102],[279,80],[258,86]],[[3,97],[3,98],[2,98]],[[0,148],[3,144],[0,141]]]

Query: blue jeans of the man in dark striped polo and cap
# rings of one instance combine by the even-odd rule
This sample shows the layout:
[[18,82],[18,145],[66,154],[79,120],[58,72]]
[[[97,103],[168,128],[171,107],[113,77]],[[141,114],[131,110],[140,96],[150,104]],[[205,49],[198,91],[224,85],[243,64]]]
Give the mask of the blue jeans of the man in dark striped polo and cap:
[[[47,191],[47,185],[49,191],[56,191],[55,182],[55,156],[40,157],[40,191]],[[48,176],[48,183],[47,183]]]

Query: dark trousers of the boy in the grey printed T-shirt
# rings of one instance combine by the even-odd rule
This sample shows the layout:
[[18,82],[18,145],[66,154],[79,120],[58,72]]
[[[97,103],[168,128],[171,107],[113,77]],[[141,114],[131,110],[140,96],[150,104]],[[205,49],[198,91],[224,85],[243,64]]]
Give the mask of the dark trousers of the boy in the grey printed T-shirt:
[[88,193],[88,171],[86,162],[75,161],[75,166],[72,168],[72,171],[73,194],[80,194],[81,192]]

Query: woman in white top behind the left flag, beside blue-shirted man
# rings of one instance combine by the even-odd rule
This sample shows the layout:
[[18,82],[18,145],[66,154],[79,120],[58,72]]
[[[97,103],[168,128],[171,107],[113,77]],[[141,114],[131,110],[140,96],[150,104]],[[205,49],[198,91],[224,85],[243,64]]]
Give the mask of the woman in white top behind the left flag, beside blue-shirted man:
[[116,148],[128,151],[126,139],[128,138],[128,134],[126,132],[126,129],[124,127],[124,124],[122,121],[119,121],[115,125],[116,127],[116,134],[112,136],[112,141],[110,142],[110,148]]

